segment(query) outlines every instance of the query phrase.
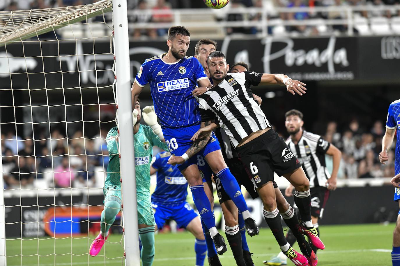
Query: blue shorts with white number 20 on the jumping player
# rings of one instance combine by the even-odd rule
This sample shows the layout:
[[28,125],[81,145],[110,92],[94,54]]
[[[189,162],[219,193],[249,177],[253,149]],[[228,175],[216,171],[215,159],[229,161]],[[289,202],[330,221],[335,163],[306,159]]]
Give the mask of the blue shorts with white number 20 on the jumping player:
[[[162,133],[167,142],[168,148],[172,155],[182,156],[192,146],[193,142],[190,140],[194,133],[200,129],[200,124],[194,126],[185,126],[182,128],[163,128]],[[198,152],[195,156],[192,156],[189,160],[183,164],[178,165],[180,171],[184,170],[192,164],[197,164],[198,156],[204,158],[210,152],[221,150],[220,143],[214,132],[212,132],[211,138],[206,146]]]

